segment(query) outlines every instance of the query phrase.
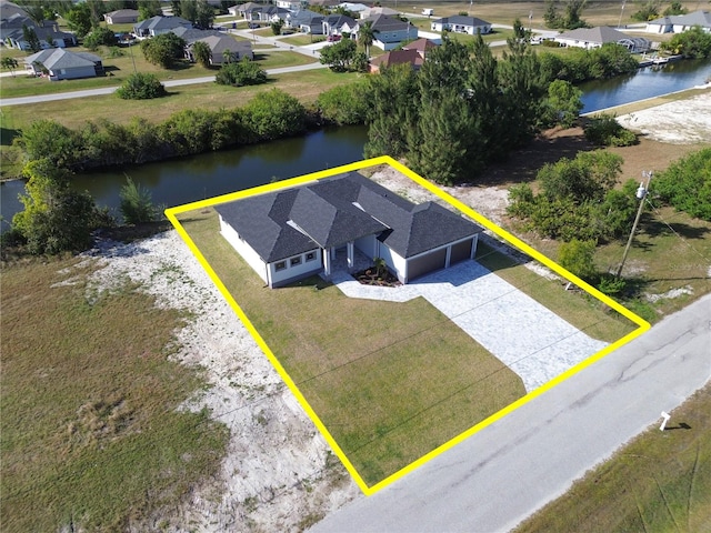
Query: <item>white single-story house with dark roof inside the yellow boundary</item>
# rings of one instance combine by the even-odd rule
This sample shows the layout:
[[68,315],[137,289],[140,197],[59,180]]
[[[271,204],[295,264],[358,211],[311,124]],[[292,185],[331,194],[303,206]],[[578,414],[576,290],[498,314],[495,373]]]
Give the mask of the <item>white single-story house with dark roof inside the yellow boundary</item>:
[[216,207],[220,233],[270,288],[332,274],[336,253],[381,258],[402,283],[473,259],[482,228],[358,172]]

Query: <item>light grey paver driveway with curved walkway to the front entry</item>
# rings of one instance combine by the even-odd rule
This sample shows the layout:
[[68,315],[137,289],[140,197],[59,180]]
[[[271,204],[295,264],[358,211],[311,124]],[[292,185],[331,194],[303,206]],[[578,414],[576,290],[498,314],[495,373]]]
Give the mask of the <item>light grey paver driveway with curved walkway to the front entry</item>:
[[362,285],[343,269],[334,269],[331,281],[351,298],[391,302],[427,299],[519,374],[528,392],[608,345],[477,261],[464,261],[397,288]]

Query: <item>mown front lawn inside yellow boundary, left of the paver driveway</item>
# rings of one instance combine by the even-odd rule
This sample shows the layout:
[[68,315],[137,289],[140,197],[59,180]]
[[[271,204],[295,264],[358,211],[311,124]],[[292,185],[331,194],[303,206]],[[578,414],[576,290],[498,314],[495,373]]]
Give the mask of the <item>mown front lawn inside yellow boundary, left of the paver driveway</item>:
[[424,299],[350,299],[319,279],[266,289],[212,210],[181,220],[369,485],[525,394],[518,375]]

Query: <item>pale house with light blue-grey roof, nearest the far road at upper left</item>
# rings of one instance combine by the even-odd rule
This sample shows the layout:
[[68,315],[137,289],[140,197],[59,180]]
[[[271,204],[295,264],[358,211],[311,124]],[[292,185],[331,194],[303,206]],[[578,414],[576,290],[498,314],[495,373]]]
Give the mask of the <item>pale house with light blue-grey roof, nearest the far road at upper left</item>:
[[99,56],[88,52],[69,52],[61,48],[42,50],[28,56],[24,58],[24,66],[29,73],[46,74],[51,81],[103,76],[103,64]]

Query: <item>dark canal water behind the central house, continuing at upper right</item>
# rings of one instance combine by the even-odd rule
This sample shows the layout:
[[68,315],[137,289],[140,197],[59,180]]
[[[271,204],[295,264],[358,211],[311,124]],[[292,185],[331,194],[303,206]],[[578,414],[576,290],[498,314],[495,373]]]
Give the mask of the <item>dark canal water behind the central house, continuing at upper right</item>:
[[[663,68],[581,86],[583,112],[652,98],[703,84],[711,78],[711,59],[678,61]],[[364,127],[328,128],[304,137],[264,144],[241,147],[191,158],[150,163],[106,172],[82,174],[74,181],[88,190],[99,205],[108,205],[119,215],[119,190],[126,177],[148,188],[153,202],[173,207],[248,189],[270,181],[359,161],[367,140]],[[18,194],[22,181],[0,184],[0,229],[9,228],[12,215],[22,209]]]

